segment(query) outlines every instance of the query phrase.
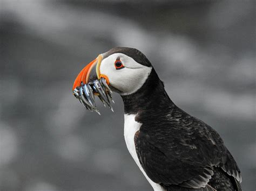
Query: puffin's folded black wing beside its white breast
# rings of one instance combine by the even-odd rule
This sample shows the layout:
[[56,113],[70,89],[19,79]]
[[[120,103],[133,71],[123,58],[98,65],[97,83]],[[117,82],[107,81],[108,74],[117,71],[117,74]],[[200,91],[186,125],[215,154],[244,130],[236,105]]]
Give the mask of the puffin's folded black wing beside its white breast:
[[134,143],[146,174],[163,185],[202,188],[211,179],[213,167],[219,166],[240,181],[240,170],[218,133],[195,120],[189,128],[142,125]]

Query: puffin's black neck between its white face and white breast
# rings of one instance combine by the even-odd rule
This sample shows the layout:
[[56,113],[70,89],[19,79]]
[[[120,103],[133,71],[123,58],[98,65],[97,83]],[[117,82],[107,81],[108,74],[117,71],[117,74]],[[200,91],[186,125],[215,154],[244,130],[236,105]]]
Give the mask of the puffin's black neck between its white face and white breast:
[[176,107],[167,95],[163,82],[159,79],[154,68],[136,93],[122,96],[125,114],[138,114],[140,116],[156,115],[156,113],[169,112]]

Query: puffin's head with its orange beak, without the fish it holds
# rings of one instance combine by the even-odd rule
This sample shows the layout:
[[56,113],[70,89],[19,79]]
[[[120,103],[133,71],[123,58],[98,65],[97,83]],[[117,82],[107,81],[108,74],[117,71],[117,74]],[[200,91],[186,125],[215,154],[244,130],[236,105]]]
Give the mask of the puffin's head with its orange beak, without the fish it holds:
[[99,54],[78,74],[73,90],[93,80],[104,77],[113,91],[121,95],[136,92],[151,72],[152,66],[146,56],[135,48],[116,47]]

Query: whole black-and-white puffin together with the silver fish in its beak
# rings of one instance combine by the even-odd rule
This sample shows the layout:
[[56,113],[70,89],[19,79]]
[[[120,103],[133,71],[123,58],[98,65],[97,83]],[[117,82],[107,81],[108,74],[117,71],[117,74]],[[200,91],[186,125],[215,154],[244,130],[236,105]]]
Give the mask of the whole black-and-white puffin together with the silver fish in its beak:
[[173,103],[138,49],[99,54],[72,88],[79,102],[98,114],[95,97],[113,111],[112,91],[124,102],[126,146],[153,190],[242,190],[240,169],[223,139]]

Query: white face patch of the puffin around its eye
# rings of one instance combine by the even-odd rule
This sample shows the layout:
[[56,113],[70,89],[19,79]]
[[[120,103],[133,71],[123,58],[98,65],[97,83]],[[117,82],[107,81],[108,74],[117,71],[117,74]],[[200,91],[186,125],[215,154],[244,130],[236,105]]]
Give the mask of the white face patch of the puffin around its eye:
[[[116,69],[114,62],[119,57],[124,68]],[[141,65],[131,57],[115,53],[103,59],[100,63],[100,74],[109,78],[111,86],[120,90],[121,95],[129,95],[136,92],[143,86],[147,77],[150,75],[152,67]]]

